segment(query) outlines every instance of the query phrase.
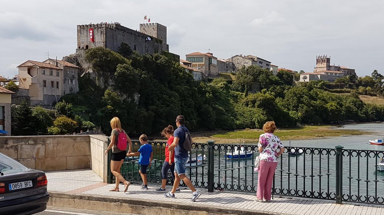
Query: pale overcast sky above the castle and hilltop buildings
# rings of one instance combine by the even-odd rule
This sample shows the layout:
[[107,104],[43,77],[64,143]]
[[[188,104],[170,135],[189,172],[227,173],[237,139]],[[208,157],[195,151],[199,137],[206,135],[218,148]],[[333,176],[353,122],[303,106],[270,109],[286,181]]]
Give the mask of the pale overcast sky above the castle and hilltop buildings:
[[219,58],[253,54],[279,67],[313,71],[316,55],[331,64],[384,73],[384,1],[380,0],[0,0],[0,75],[18,74],[45,52],[61,59],[76,51],[76,25],[105,21],[139,29],[143,13],[167,26],[172,53]]

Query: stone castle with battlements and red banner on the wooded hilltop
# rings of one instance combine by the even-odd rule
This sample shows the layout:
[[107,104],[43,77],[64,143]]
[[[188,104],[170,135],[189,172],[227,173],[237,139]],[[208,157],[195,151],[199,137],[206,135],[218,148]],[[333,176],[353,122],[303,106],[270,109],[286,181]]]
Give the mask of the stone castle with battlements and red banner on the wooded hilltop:
[[154,54],[169,51],[167,27],[159,23],[140,24],[140,31],[120,25],[120,23],[97,23],[77,26],[77,48],[80,64],[84,62],[85,50],[102,46],[118,51],[121,43],[127,43],[139,54]]

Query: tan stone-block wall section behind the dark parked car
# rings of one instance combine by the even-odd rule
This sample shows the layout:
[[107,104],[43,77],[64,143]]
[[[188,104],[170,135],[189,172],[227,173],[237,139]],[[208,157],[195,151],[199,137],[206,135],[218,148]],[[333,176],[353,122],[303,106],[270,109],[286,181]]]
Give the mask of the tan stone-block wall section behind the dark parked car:
[[42,171],[90,167],[87,135],[0,137],[0,152]]

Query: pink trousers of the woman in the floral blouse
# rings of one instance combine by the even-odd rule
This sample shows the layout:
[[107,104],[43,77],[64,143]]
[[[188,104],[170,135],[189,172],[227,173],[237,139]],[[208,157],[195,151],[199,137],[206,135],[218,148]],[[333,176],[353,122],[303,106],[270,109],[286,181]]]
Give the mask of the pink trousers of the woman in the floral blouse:
[[257,199],[271,200],[273,175],[277,162],[260,161],[259,176],[257,181]]

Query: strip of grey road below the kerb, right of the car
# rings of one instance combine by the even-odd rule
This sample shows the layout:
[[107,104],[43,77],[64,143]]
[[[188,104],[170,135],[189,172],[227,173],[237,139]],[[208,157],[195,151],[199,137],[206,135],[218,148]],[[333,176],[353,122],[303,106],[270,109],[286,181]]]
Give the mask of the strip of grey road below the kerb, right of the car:
[[81,210],[73,208],[47,207],[43,212],[36,215],[136,215],[132,213],[116,213],[97,210]]

